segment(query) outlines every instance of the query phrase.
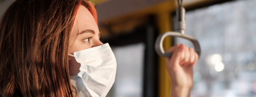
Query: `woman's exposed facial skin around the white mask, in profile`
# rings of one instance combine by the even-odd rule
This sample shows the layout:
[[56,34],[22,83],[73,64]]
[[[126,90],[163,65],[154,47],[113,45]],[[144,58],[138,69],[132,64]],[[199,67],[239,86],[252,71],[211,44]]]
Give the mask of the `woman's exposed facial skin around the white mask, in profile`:
[[[73,52],[102,44],[100,41],[100,32],[94,17],[86,7],[80,5],[71,32],[68,53],[74,55]],[[79,68],[80,63],[76,62],[74,57],[69,56],[69,74],[77,75],[80,72]]]

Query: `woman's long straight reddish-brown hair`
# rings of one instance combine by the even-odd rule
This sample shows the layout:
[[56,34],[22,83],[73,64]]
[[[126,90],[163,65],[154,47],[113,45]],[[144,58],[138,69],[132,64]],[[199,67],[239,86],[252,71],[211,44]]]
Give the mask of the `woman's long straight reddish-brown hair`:
[[0,22],[0,96],[74,97],[68,47],[80,4],[86,0],[16,0]]

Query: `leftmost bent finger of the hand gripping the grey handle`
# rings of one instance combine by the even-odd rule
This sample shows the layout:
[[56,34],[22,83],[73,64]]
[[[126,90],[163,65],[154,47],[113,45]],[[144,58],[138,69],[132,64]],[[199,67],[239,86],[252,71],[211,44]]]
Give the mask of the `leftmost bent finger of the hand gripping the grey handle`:
[[184,47],[185,47],[184,44],[180,44],[180,46],[178,46],[178,48],[173,52],[172,58],[170,59],[170,63],[169,63],[169,64],[172,64],[171,67],[175,65],[180,65],[179,63],[184,58],[184,49],[185,49]]

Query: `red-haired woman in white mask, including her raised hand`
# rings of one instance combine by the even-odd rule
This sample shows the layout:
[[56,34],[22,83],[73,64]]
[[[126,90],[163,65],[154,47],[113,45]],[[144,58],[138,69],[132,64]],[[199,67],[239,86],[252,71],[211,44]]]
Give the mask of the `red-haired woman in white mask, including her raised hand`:
[[[89,1],[16,0],[0,22],[0,96],[106,96],[116,61],[99,38]],[[174,52],[166,58],[171,97],[189,96],[196,52],[183,44],[166,52]]]

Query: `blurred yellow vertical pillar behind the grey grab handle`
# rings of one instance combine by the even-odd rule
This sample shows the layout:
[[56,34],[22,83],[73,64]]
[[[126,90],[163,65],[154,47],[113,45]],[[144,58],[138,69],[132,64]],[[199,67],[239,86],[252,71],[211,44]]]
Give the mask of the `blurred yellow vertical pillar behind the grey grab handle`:
[[[157,15],[157,22],[159,28],[159,34],[165,33],[171,30],[170,13],[176,9],[176,2],[174,0],[163,2],[156,5],[155,14]],[[171,47],[171,38],[167,37],[163,41],[163,47],[165,50]],[[170,97],[170,78],[166,70],[166,63],[164,57],[159,57],[159,89],[158,97]]]

